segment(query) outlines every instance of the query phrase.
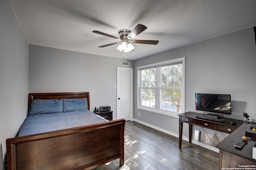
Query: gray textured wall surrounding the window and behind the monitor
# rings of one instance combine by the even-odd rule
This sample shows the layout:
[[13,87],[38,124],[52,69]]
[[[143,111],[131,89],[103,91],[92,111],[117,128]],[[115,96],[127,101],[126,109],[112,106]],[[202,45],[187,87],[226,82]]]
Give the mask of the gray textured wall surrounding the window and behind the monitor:
[[[134,119],[178,134],[178,119],[137,109],[137,67],[185,57],[185,111],[197,112],[194,93],[230,94],[232,115],[256,119],[256,45],[253,28],[134,61]],[[140,112],[140,117],[138,113]],[[199,113],[203,113],[199,111]],[[184,132],[188,134],[187,125]]]

